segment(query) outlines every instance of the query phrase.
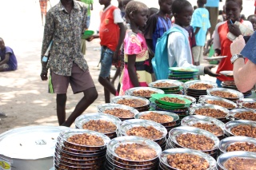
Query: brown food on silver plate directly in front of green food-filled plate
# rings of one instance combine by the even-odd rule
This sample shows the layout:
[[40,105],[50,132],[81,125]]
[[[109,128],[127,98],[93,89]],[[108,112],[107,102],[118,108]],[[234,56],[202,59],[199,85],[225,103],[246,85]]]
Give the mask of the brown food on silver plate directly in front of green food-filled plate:
[[154,121],[159,124],[174,121],[174,117],[170,117],[166,114],[159,114],[159,113],[154,113],[154,112],[144,114],[140,117],[140,119]]

